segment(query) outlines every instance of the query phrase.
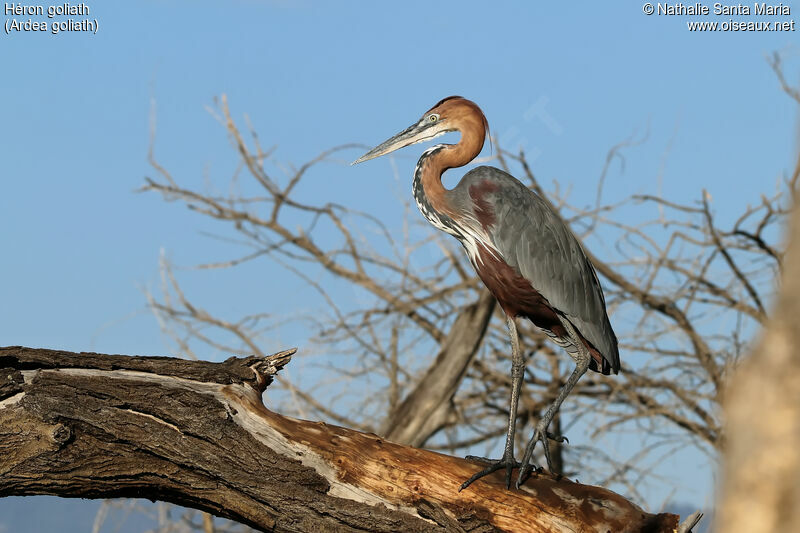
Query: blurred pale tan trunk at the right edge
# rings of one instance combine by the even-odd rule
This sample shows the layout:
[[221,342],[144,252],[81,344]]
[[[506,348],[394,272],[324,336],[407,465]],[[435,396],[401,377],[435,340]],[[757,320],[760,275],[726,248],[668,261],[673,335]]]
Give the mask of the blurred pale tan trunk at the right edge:
[[[795,177],[800,173],[800,160]],[[800,210],[797,193],[781,291],[761,341],[725,389],[717,530],[795,531],[800,523]]]

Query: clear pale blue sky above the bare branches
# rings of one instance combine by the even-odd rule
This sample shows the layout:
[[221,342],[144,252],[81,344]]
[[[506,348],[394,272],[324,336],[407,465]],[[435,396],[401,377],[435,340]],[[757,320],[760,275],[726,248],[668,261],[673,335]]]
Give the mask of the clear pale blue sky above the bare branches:
[[[157,284],[160,250],[188,266],[216,249],[204,221],[134,192],[153,174],[153,102],[156,154],[187,184],[224,186],[235,168],[206,111],[223,93],[287,164],[339,144],[376,144],[461,94],[482,106],[505,148],[534,156],[545,185],[558,181],[587,204],[608,149],[647,133],[624,171],[614,167],[606,199],[661,190],[690,201],[706,188],[723,218],[773,190],[796,146],[797,111],[765,56],[785,50],[797,83],[797,33],[686,28],[686,20],[729,17],[646,16],[643,2],[87,4],[95,35],[0,37],[2,345],[169,349],[142,292]],[[794,18],[800,5],[789,5],[792,15],[774,20]],[[407,189],[419,151],[397,159]],[[346,152],[342,163],[358,155]],[[312,174],[312,194],[399,211],[395,191],[382,194],[395,185],[384,174],[388,162],[327,164]],[[300,282],[271,284],[285,272],[259,268],[224,288],[203,286],[200,296],[233,311],[236,300],[224,296],[231,287],[258,284],[276,296],[265,310],[280,312]],[[299,328],[275,340],[304,341]],[[709,470],[687,485],[692,499],[707,501]]]

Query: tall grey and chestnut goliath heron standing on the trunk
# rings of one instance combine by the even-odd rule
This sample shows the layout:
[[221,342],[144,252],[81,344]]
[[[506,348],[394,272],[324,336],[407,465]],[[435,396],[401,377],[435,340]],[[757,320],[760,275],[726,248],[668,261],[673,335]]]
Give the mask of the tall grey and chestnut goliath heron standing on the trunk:
[[[466,165],[480,153],[489,126],[480,108],[460,96],[451,96],[425,112],[422,118],[353,164],[388,154],[410,144],[450,131],[461,132],[457,144],[428,148],[414,170],[414,199],[431,224],[461,242],[478,276],[506,314],[511,337],[511,402],[502,459],[468,479],[473,481],[506,469],[506,486],[519,466],[516,487],[532,468],[536,443],[541,441],[547,467],[553,470],[547,428],[580,377],[619,371],[617,337],[606,313],[605,298],[594,267],[578,239],[540,196],[510,174],[481,166],[467,172],[455,188],[442,185],[442,174]],[[534,429],[522,462],[514,457],[517,404],[524,375],[517,317],[527,317],[575,361],[552,405]]]

